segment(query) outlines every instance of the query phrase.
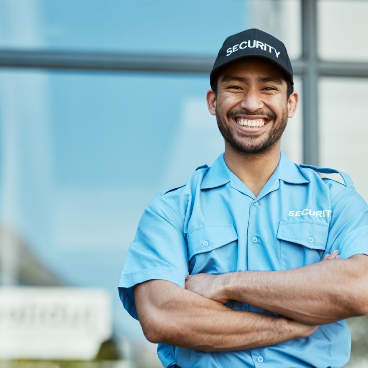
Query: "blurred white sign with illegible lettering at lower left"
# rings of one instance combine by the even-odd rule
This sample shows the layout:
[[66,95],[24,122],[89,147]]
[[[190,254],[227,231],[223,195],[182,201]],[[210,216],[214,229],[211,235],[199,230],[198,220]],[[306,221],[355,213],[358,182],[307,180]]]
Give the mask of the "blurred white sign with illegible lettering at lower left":
[[0,359],[93,359],[112,332],[104,290],[0,287]]

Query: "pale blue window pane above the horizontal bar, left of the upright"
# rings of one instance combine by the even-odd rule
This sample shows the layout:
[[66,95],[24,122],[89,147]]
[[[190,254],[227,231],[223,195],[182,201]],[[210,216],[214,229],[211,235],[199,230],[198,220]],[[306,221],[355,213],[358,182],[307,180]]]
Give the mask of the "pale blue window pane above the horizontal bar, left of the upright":
[[296,57],[298,19],[295,0],[3,0],[0,47],[215,57],[227,36],[256,26],[275,31]]

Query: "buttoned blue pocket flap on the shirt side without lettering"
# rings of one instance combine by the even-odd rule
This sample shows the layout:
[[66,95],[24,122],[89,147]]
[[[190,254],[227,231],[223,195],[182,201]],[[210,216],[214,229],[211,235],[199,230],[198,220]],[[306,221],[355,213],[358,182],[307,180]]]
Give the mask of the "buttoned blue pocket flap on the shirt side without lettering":
[[206,226],[188,233],[189,260],[198,253],[209,252],[237,240],[234,225]]

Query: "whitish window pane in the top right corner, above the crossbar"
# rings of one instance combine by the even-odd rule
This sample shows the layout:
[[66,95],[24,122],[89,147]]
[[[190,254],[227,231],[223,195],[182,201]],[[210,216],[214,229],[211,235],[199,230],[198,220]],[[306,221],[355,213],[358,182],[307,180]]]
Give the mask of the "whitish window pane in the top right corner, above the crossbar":
[[367,1],[319,0],[317,14],[319,57],[367,61]]

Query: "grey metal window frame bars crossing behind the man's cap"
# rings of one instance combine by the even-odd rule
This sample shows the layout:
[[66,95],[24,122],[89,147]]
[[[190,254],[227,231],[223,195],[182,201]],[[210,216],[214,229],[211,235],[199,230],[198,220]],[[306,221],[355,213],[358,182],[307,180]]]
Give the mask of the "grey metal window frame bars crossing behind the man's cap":
[[[317,1],[301,1],[302,54],[291,61],[302,80],[303,162],[318,165],[318,81],[320,77],[368,78],[368,61],[320,60],[317,51]],[[188,54],[90,53],[47,50],[0,49],[0,68],[40,68],[78,71],[134,71],[209,74],[215,56]]]

